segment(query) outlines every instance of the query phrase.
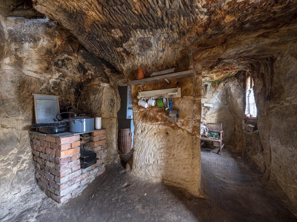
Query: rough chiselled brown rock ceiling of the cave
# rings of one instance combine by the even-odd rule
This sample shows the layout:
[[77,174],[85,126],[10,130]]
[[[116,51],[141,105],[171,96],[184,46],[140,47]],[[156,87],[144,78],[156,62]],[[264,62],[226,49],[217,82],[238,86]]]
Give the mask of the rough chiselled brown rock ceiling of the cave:
[[245,57],[273,56],[296,42],[296,0],[33,0],[94,55],[132,79],[194,66],[210,80],[245,70]]

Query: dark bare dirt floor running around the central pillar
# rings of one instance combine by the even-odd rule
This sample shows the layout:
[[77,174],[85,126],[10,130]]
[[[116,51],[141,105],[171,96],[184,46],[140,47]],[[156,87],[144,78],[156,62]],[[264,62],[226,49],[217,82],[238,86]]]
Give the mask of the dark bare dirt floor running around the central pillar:
[[141,180],[121,166],[109,166],[68,203],[58,205],[44,195],[41,203],[37,201],[38,204],[21,209],[12,207],[11,214],[0,221],[296,221],[240,157],[227,149],[223,149],[222,155],[216,151],[210,148],[201,151],[208,199]]

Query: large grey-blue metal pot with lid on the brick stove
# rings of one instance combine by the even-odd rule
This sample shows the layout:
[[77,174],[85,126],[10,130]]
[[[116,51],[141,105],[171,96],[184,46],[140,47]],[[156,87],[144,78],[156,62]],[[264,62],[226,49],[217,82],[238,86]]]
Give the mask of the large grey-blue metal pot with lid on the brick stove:
[[94,118],[89,116],[77,116],[69,118],[69,131],[83,133],[94,130]]

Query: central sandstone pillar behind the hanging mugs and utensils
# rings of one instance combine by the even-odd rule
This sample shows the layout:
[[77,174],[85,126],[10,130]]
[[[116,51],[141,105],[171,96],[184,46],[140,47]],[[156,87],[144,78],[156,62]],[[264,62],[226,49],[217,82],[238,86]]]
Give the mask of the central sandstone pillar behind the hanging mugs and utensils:
[[[138,106],[139,91],[181,87],[182,97],[174,98],[172,109],[180,116],[172,123],[163,108]],[[132,87],[134,154],[132,172],[154,182],[187,189],[201,196],[199,130],[201,78],[184,78],[167,83]]]

